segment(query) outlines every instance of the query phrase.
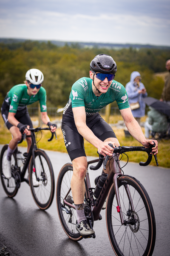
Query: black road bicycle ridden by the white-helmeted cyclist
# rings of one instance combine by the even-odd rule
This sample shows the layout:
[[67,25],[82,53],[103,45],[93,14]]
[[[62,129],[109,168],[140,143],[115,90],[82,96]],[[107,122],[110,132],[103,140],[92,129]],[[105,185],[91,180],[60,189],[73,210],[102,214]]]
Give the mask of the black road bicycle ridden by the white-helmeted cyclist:
[[[11,156],[11,178],[7,179],[3,174],[4,157],[7,154],[8,144],[4,145],[0,154],[0,177],[3,189],[8,197],[13,198],[20,188],[22,182],[29,184],[31,193],[37,206],[42,209],[48,209],[54,198],[55,180],[53,167],[48,155],[42,149],[37,148],[37,140],[35,133],[42,130],[50,130],[50,128],[29,128],[31,131],[32,145],[28,153],[24,153],[23,157],[20,156],[18,148]],[[55,133],[51,132],[51,141]],[[56,134],[55,134],[56,136]],[[22,143],[22,137],[19,143]],[[57,137],[56,137],[57,139]],[[21,163],[22,162],[22,163]],[[23,166],[23,169],[22,167]],[[28,178],[25,178],[26,170],[28,168]]]

